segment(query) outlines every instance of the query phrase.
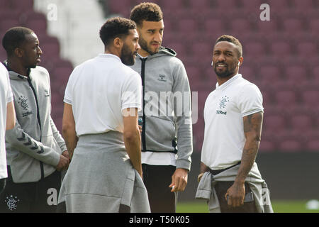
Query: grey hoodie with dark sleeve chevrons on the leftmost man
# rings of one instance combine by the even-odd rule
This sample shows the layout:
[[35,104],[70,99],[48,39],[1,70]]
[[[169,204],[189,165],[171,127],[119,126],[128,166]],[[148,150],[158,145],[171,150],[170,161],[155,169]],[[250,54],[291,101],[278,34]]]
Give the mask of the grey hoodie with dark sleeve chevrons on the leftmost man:
[[6,157],[13,182],[37,182],[55,172],[65,140],[52,121],[49,73],[30,70],[29,78],[9,69],[16,126],[6,131]]

